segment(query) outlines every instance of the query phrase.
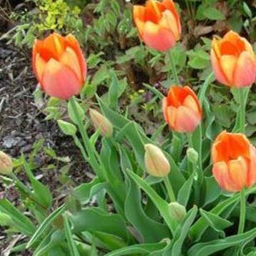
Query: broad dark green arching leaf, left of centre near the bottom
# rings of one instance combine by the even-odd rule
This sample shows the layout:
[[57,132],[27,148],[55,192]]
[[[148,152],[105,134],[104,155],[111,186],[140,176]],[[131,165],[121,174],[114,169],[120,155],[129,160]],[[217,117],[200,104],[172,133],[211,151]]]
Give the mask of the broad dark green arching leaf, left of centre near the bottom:
[[74,233],[77,232],[106,232],[124,241],[128,240],[128,232],[124,219],[121,215],[105,212],[97,207],[85,208],[71,217],[74,225]]

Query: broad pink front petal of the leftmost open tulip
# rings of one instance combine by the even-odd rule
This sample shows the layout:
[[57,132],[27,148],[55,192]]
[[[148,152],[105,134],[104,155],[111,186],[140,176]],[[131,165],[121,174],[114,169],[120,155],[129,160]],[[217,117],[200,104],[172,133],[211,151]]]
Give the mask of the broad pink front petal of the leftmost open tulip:
[[50,59],[46,64],[41,86],[46,94],[59,99],[69,99],[79,94],[82,88],[81,82],[72,69],[55,59]]

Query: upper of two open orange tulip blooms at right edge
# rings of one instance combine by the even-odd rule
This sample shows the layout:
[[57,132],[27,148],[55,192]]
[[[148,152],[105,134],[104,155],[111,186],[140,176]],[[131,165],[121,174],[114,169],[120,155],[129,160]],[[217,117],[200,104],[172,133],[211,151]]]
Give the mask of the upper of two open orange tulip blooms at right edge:
[[212,69],[216,79],[229,87],[246,87],[255,82],[256,58],[249,42],[233,31],[212,40]]

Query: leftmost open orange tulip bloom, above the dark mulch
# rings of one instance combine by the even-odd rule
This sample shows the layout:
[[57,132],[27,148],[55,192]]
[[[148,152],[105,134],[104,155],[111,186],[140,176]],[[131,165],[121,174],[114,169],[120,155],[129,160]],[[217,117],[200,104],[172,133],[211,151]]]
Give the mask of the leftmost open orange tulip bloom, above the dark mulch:
[[81,92],[87,64],[74,36],[54,33],[36,40],[32,58],[34,74],[46,94],[69,99]]

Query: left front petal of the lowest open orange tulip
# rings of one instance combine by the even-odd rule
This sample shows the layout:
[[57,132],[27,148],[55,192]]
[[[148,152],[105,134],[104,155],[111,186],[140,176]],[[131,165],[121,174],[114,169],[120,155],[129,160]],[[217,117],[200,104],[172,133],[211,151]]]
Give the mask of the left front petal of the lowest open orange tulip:
[[239,191],[239,187],[232,181],[226,162],[217,162],[212,167],[212,174],[222,189],[229,192]]

